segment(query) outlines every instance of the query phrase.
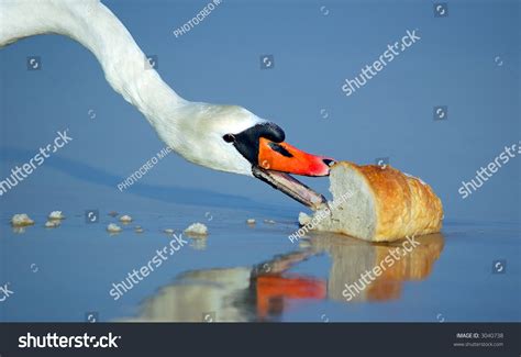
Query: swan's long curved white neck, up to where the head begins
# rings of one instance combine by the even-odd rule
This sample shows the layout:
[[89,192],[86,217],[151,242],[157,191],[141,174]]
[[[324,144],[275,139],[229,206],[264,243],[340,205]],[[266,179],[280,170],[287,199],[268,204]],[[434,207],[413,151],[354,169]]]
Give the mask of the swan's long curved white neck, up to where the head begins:
[[[118,18],[98,0],[2,0],[0,47],[45,33],[69,36],[99,60],[112,88],[134,104],[156,130],[186,101],[146,64]],[[171,123],[171,122],[170,122]],[[171,124],[170,124],[171,125]]]

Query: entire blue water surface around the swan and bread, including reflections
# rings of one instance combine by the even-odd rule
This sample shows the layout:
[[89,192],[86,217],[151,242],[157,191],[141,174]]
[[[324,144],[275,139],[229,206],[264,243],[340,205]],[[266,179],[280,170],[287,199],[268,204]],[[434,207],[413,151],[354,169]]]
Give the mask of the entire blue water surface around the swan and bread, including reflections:
[[[182,97],[243,105],[311,153],[359,164],[388,157],[432,186],[445,225],[347,302],[344,285],[396,244],[330,234],[292,244],[298,203],[174,154],[120,192],[164,144],[88,51],[31,37],[0,49],[0,180],[57,131],[74,140],[0,198],[0,287],[14,292],[0,302],[1,321],[85,321],[91,312],[99,321],[521,320],[519,155],[468,198],[458,193],[505,146],[519,145],[519,1],[448,1],[448,16],[435,18],[424,1],[226,0],[179,38],[173,31],[207,0],[103,2]],[[414,29],[420,42],[354,94],[342,92]],[[266,54],[269,70],[259,68]],[[27,70],[29,56],[41,70]],[[433,120],[435,105],[448,108],[446,120]],[[329,186],[304,182],[322,193]],[[99,223],[86,223],[89,209]],[[54,210],[67,219],[45,228]],[[134,222],[111,236],[110,211]],[[13,232],[14,213],[36,224]],[[188,239],[114,301],[112,285],[169,243],[163,231],[193,222],[208,225],[208,238]]]

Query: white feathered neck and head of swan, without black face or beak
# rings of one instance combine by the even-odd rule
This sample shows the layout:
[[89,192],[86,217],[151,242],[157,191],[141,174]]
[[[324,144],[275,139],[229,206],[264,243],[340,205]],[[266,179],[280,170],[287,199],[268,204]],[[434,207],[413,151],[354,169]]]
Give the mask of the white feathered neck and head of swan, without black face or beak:
[[87,47],[107,81],[135,105],[176,153],[212,169],[251,174],[251,164],[222,140],[263,122],[246,109],[190,102],[146,66],[126,27],[98,0],[0,0],[0,47],[37,34],[66,35]]

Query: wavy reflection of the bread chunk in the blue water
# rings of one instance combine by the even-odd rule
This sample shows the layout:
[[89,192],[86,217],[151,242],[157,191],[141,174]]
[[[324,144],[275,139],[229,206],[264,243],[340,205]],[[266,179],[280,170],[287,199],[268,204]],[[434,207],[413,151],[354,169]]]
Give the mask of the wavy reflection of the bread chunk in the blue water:
[[[444,239],[441,234],[415,237],[420,243],[412,252],[395,259],[395,264],[366,285],[351,301],[385,301],[397,299],[403,281],[426,278],[443,250]],[[390,255],[391,250],[401,247],[400,243],[375,244],[342,236],[334,233],[321,233],[312,237],[312,249],[328,252],[332,266],[328,279],[330,299],[346,301],[343,291],[345,285],[361,279],[362,274],[372,270]]]

